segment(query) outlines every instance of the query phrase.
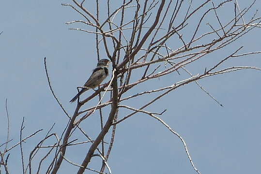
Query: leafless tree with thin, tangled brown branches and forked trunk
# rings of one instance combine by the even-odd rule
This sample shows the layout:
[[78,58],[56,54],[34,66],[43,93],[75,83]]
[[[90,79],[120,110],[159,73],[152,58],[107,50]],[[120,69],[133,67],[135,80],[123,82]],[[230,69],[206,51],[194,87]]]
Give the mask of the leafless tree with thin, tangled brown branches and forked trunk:
[[[66,24],[70,25],[75,23],[83,24],[82,28],[70,29],[95,35],[97,59],[100,59],[102,51],[106,53],[107,58],[112,62],[112,76],[106,84],[101,85],[88,98],[78,99],[74,114],[69,116],[52,90],[45,58],[49,87],[68,117],[69,122],[60,138],[55,133],[49,134],[50,130],[46,137],[36,145],[30,154],[27,167],[25,166],[25,169],[23,169],[24,173],[29,170],[31,174],[31,160],[37,153],[37,150],[44,147],[50,148],[50,150],[40,161],[37,173],[40,171],[43,160],[46,159],[52,150],[55,150],[55,153],[49,163],[49,167],[46,169],[46,174],[57,174],[63,160],[78,166],[77,174],[83,174],[86,169],[103,174],[106,167],[108,172],[111,173],[107,160],[113,147],[117,125],[127,121],[127,118],[137,113],[144,113],[158,120],[159,123],[163,124],[181,140],[192,168],[200,174],[200,171],[193,164],[184,139],[177,132],[173,131],[168,123],[157,116],[162,115],[166,110],[163,108],[159,113],[153,113],[144,109],[154,102],[159,102],[160,98],[168,95],[171,91],[193,82],[222,106],[214,96],[199,84],[198,81],[200,79],[245,69],[261,70],[260,68],[249,66],[219,68],[221,64],[230,58],[261,53],[258,51],[240,54],[239,52],[243,46],[232,47],[233,50],[229,47],[237,42],[238,39],[250,33],[252,29],[261,27],[261,17],[257,16],[257,13],[252,14],[249,20],[245,19],[246,14],[254,7],[255,1],[249,4],[247,8],[240,9],[237,0],[224,0],[222,2],[219,1],[217,4],[212,0],[205,0],[204,2],[197,2],[198,5],[193,5],[193,0],[123,0],[122,4],[118,4],[120,1],[113,1],[112,4],[112,1],[107,0],[107,12],[101,10],[100,3],[104,3],[104,1],[99,0],[95,1],[96,7],[90,6],[89,2],[85,2],[85,0],[72,0],[71,4],[62,4],[70,7],[83,18],[82,20],[67,22]],[[220,15],[219,9],[221,8],[229,11],[230,16],[224,17]],[[91,11],[93,9],[96,9],[95,12]],[[211,18],[211,22],[207,22],[207,25],[204,25],[204,22],[207,21],[206,18]],[[183,35],[182,33],[185,30],[189,30],[190,34]],[[227,47],[230,48],[229,55],[216,61],[214,65],[202,64],[199,67],[200,71],[198,74],[190,73],[185,68],[185,66],[193,65],[196,61]],[[162,84],[163,86],[160,88],[150,86],[147,87],[147,90],[140,91],[138,94],[127,95],[132,93],[131,91],[134,87],[144,86],[155,78],[163,78],[171,73],[180,74],[180,71],[184,71],[190,77],[182,76],[184,77],[183,80],[175,81],[173,79],[170,86],[165,84]],[[105,96],[106,93],[110,93],[110,97]],[[137,97],[146,98],[151,93],[158,95],[153,100],[142,103],[138,109],[124,104],[126,101]],[[99,97],[97,104],[89,109],[82,109],[85,103],[96,96]],[[104,102],[105,99],[107,99],[106,102]],[[110,106],[110,112],[107,120],[104,120],[102,109],[107,106]],[[132,111],[132,113],[122,116],[119,115],[120,109],[127,109]],[[98,132],[98,136],[92,140],[80,127],[80,123],[94,112],[99,112],[100,114],[101,130]],[[109,129],[112,129],[111,135],[107,135]],[[72,138],[72,132],[75,130],[82,132],[82,135],[89,141],[73,143],[76,140]],[[105,146],[103,141],[106,135],[111,137],[107,146]],[[52,136],[55,137],[56,142],[53,145],[42,146],[43,142]],[[22,142],[23,140],[20,138],[20,145]],[[86,155],[82,163],[76,164],[68,160],[66,158],[67,146],[82,143],[92,143],[85,152]],[[1,153],[1,165],[4,165],[4,154],[6,152],[5,150],[4,153]],[[90,160],[96,156],[102,159],[100,170],[88,168]]]

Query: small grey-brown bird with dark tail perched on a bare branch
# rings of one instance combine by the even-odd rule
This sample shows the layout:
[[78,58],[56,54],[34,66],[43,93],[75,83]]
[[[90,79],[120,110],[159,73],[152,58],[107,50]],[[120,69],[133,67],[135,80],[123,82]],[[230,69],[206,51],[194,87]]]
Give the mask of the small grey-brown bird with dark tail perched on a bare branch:
[[[93,70],[92,75],[84,84],[84,87],[90,87],[92,89],[98,87],[109,74],[109,62],[110,61],[108,59],[100,59],[97,63],[96,68]],[[80,92],[70,102],[75,102],[82,93],[90,88],[82,88]]]

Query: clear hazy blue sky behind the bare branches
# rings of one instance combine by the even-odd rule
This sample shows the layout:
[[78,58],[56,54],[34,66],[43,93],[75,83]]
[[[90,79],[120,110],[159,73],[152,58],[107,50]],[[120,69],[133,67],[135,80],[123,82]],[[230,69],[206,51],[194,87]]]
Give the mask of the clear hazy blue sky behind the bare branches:
[[[247,0],[238,1],[242,9],[250,3]],[[61,3],[72,2],[69,0],[5,0],[0,3],[0,31],[3,31],[0,35],[0,144],[6,140],[5,100],[7,99],[10,139],[14,139],[9,146],[19,141],[23,117],[25,117],[23,137],[43,129],[23,144],[26,163],[29,153],[46,135],[52,124],[56,123],[52,132],[60,136],[68,121],[49,90],[44,57],[46,57],[53,90],[70,115],[73,114],[76,106],[76,103],[69,103],[77,92],[76,87],[87,80],[96,65],[93,35],[69,30],[68,28],[78,26],[68,26],[65,23],[82,19],[82,17],[71,8],[61,6]],[[88,2],[88,5],[90,9],[93,8],[92,2]],[[193,3],[192,6],[195,9],[197,4]],[[101,7],[103,7],[102,4]],[[233,5],[230,7],[232,9]],[[260,8],[261,1],[257,1],[246,19],[251,18],[255,10]],[[231,9],[220,9],[222,22],[229,19],[227,16]],[[261,13],[258,12],[257,15],[260,16]],[[198,21],[199,16],[195,16],[195,19]],[[209,17],[204,24],[213,20],[213,16]],[[240,53],[260,51],[260,32],[260,28],[253,29],[250,34],[228,49],[212,54],[204,61],[195,62],[187,66],[187,69],[193,74],[202,73],[204,67],[215,65],[241,45],[244,45],[244,48]],[[185,29],[182,34],[185,37],[189,33],[191,30]],[[104,52],[101,52],[101,56],[106,58]],[[222,67],[243,65],[260,68],[260,55],[231,58]],[[174,73],[160,80],[152,80],[146,86],[133,89],[128,95],[152,86],[152,88],[158,88],[161,84],[170,83],[171,85],[187,77],[184,72],[181,71],[181,73],[182,75]],[[199,87],[191,83],[172,91],[145,110],[160,113],[167,109],[160,117],[174,131],[182,135],[194,164],[202,174],[257,174],[261,170],[260,78],[260,71],[244,70],[200,80],[200,84],[224,107],[220,107]],[[108,80],[109,78],[106,81]],[[91,92],[86,92],[85,97],[90,94]],[[152,94],[126,103],[138,108],[155,96],[156,94]],[[89,108],[97,100],[95,98],[90,103],[86,103],[84,108]],[[103,110],[105,119],[108,112],[109,107]],[[130,113],[128,110],[121,109],[119,117],[122,118],[128,113]],[[92,139],[95,139],[100,129],[98,112],[81,123],[81,127]],[[71,140],[77,138],[77,142],[86,141],[78,131],[73,135]],[[109,138],[107,136],[105,141],[109,142]],[[52,142],[54,139],[46,142],[45,145]],[[88,147],[89,145],[69,147],[66,157],[80,164]],[[3,149],[0,148],[0,150]],[[36,159],[41,159],[44,152],[40,151]],[[178,137],[159,124],[157,120],[144,114],[132,116],[117,126],[115,144],[108,164],[113,174],[123,172],[125,174],[196,173]],[[21,173],[18,146],[10,152],[8,166],[11,174]],[[46,164],[43,167],[45,166]],[[100,159],[92,158],[89,167],[99,170]],[[1,170],[3,172],[3,168]],[[76,171],[77,167],[63,161],[58,173],[76,173]],[[44,173],[44,170],[40,173]]]

